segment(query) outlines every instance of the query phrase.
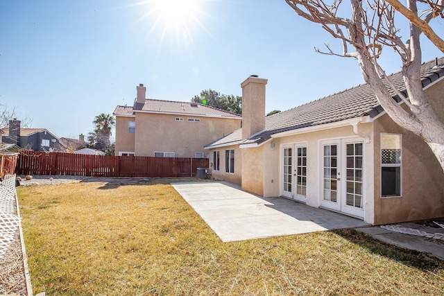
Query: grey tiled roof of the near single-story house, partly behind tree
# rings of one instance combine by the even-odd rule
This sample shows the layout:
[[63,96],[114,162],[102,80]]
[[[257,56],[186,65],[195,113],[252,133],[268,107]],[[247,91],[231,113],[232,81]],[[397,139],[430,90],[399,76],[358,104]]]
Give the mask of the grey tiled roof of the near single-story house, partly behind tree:
[[[435,60],[425,62],[421,66],[422,87],[444,76],[444,57],[438,59],[438,67]],[[388,78],[398,89],[407,96],[404,89],[404,81],[401,72],[394,73]],[[391,91],[395,101],[400,102],[400,98]],[[377,116],[384,110],[379,105],[377,98],[373,94],[369,85],[358,85],[343,92],[325,96],[316,101],[294,107],[290,110],[267,116],[265,119],[265,130],[253,135],[250,139],[242,141],[241,129],[207,144],[205,148],[213,146],[230,145],[237,141],[241,144],[263,143],[271,138],[272,134],[285,132],[288,130],[298,130],[310,126],[334,123],[348,119],[355,119],[361,116]]]

